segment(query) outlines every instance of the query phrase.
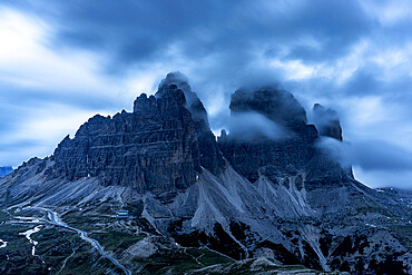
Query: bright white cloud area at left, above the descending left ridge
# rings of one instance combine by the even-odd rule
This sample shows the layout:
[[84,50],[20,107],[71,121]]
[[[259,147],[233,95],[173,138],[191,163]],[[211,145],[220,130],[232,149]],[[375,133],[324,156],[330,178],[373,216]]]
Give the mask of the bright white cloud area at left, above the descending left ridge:
[[127,98],[130,108],[137,95],[128,79],[101,75],[96,55],[50,48],[50,28],[0,8],[0,166],[50,155],[88,117],[118,111]]

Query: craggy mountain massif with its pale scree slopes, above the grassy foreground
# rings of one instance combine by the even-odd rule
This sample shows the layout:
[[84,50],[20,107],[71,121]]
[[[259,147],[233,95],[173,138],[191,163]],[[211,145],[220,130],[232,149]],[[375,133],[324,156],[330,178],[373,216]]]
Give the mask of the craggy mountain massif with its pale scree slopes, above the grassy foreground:
[[237,90],[230,112],[216,141],[187,79],[169,73],[133,112],[95,116],[50,158],[1,178],[0,205],[94,217],[121,205],[135,215],[130,226],[145,220],[147,234],[235,259],[412,271],[408,202],[356,181],[317,146],[324,136],[342,140],[334,111],[315,106],[315,127],[290,92],[262,88]]

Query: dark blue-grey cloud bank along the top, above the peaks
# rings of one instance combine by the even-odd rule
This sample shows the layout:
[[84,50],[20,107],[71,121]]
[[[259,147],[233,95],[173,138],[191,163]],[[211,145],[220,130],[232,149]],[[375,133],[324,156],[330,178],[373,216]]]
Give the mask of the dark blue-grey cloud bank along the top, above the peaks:
[[[60,1],[53,10],[45,9],[45,1],[26,2],[56,22],[56,45],[101,52],[111,72],[160,60],[175,43],[187,59],[222,55],[225,62],[242,57],[236,58],[239,66],[249,63],[256,49],[286,59],[333,58],[373,26],[357,1],[73,0]],[[236,63],[235,70],[241,68]]]

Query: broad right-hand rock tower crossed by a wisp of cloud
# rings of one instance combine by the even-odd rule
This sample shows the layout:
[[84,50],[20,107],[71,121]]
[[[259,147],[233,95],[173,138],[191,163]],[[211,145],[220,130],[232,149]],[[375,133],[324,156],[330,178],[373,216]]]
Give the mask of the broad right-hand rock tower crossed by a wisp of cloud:
[[302,171],[307,174],[307,181],[345,176],[340,165],[316,147],[318,132],[313,125],[307,125],[305,110],[290,92],[274,88],[237,90],[232,96],[230,116],[241,114],[258,114],[272,122],[266,127],[282,130],[277,136],[242,139],[236,125],[230,127],[229,135],[222,135],[218,144],[223,155],[248,180],[255,181],[264,175],[278,181]]

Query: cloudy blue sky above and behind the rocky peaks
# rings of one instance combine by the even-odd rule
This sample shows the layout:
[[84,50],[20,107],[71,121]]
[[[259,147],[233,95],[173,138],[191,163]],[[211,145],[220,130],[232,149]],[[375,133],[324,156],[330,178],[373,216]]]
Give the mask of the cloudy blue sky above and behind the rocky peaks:
[[236,88],[277,82],[339,112],[357,178],[411,188],[411,29],[408,0],[1,1],[0,166],[179,70],[214,130]]

